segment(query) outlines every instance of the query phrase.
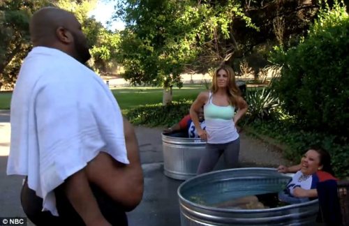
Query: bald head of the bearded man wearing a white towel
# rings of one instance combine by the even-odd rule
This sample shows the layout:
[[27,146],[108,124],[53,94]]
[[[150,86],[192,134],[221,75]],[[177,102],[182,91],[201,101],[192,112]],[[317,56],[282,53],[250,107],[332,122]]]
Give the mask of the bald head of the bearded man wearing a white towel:
[[34,46],[52,47],[85,63],[91,56],[81,24],[73,13],[54,7],[42,8],[29,24]]

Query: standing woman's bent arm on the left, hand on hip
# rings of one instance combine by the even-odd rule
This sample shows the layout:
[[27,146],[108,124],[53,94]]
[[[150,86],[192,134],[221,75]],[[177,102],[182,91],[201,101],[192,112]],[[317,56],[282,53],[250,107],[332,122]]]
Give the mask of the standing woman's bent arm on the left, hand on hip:
[[193,104],[191,105],[191,110],[190,110],[191,120],[194,123],[195,129],[196,129],[199,137],[203,140],[207,140],[207,133],[205,130],[202,130],[202,128],[200,126],[198,112],[200,111],[200,108],[203,105],[205,105],[205,103],[207,102],[208,99],[209,99],[209,92],[207,92],[207,91],[201,92],[198,95],[198,97],[196,98],[196,100],[194,100]]

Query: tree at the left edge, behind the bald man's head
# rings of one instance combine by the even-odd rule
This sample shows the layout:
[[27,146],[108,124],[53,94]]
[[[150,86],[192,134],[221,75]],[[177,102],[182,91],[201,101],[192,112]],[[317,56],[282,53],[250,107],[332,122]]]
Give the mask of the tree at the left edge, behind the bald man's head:
[[[4,0],[0,2],[0,84],[13,86],[22,60],[31,50],[29,20],[43,6],[70,10],[80,22],[86,21],[96,0]],[[93,43],[90,43],[93,44]]]

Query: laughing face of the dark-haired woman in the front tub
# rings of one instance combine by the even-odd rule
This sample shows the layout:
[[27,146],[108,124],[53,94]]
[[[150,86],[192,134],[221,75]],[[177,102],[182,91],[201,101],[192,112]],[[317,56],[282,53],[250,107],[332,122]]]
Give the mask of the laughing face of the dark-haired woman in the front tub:
[[322,169],[320,165],[320,154],[310,149],[306,151],[301,160],[301,172],[304,175],[311,175],[317,172],[319,169]]

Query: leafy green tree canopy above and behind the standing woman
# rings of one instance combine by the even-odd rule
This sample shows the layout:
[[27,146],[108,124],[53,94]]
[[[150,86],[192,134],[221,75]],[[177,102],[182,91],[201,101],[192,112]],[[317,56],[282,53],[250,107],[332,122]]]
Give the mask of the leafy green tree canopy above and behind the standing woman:
[[121,35],[124,77],[133,84],[172,86],[180,84],[183,70],[206,72],[223,61],[232,64],[261,43],[295,45],[322,2],[119,1],[117,16],[126,22]]

